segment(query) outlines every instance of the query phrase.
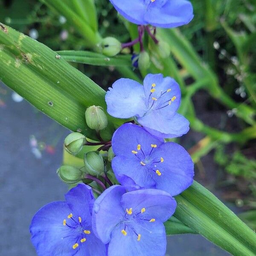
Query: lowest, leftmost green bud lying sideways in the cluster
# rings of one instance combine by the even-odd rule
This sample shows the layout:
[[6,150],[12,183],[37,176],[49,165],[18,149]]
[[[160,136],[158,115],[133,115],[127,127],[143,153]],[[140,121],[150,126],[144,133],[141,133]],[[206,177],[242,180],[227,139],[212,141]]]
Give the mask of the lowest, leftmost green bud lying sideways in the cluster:
[[83,179],[83,172],[73,166],[61,166],[57,170],[58,177],[67,184],[77,183]]

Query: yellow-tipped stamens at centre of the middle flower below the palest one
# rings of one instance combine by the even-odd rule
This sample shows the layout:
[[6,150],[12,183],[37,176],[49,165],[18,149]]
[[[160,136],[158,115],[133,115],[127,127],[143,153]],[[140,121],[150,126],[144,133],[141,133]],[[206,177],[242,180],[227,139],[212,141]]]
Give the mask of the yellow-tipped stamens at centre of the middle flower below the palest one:
[[[142,166],[146,166],[148,164],[150,164],[151,166],[149,167],[150,171],[155,172],[158,176],[161,176],[162,173],[160,172],[159,169],[157,169],[157,163],[163,163],[163,157],[160,157],[160,159],[156,160],[154,157],[151,157],[152,152],[154,151],[155,148],[157,148],[156,144],[151,144],[151,151],[149,152],[148,155],[145,155],[143,149],[141,148],[141,145],[138,144],[137,145],[137,150],[132,150],[131,153],[134,154],[138,160],[140,161],[140,164]],[[153,164],[153,165],[152,165]],[[153,167],[152,167],[153,166]]]

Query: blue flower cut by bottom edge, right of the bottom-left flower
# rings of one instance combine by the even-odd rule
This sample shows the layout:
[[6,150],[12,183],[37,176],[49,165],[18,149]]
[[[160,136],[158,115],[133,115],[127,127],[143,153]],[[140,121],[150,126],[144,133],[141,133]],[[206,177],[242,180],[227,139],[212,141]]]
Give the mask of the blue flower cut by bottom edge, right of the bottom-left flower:
[[163,256],[163,222],[176,205],[171,195],[158,189],[125,193],[123,186],[111,186],[95,201],[93,231],[103,243],[109,243],[108,256]]

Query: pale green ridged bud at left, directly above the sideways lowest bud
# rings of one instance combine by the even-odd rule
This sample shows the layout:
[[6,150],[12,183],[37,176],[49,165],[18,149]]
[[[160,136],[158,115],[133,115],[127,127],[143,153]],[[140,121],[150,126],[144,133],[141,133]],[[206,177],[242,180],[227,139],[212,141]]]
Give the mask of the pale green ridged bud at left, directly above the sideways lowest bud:
[[73,155],[76,155],[81,151],[85,136],[79,132],[73,132],[69,135],[67,135],[66,139],[64,140],[64,148],[65,150]]

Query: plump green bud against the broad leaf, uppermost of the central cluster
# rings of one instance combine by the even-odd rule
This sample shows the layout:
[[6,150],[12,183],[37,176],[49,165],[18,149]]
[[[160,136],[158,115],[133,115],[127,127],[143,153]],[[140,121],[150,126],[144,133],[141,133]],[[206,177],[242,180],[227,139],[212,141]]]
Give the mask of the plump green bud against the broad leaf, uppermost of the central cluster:
[[87,125],[96,131],[102,130],[108,125],[108,118],[101,107],[90,106],[85,111],[85,120]]

